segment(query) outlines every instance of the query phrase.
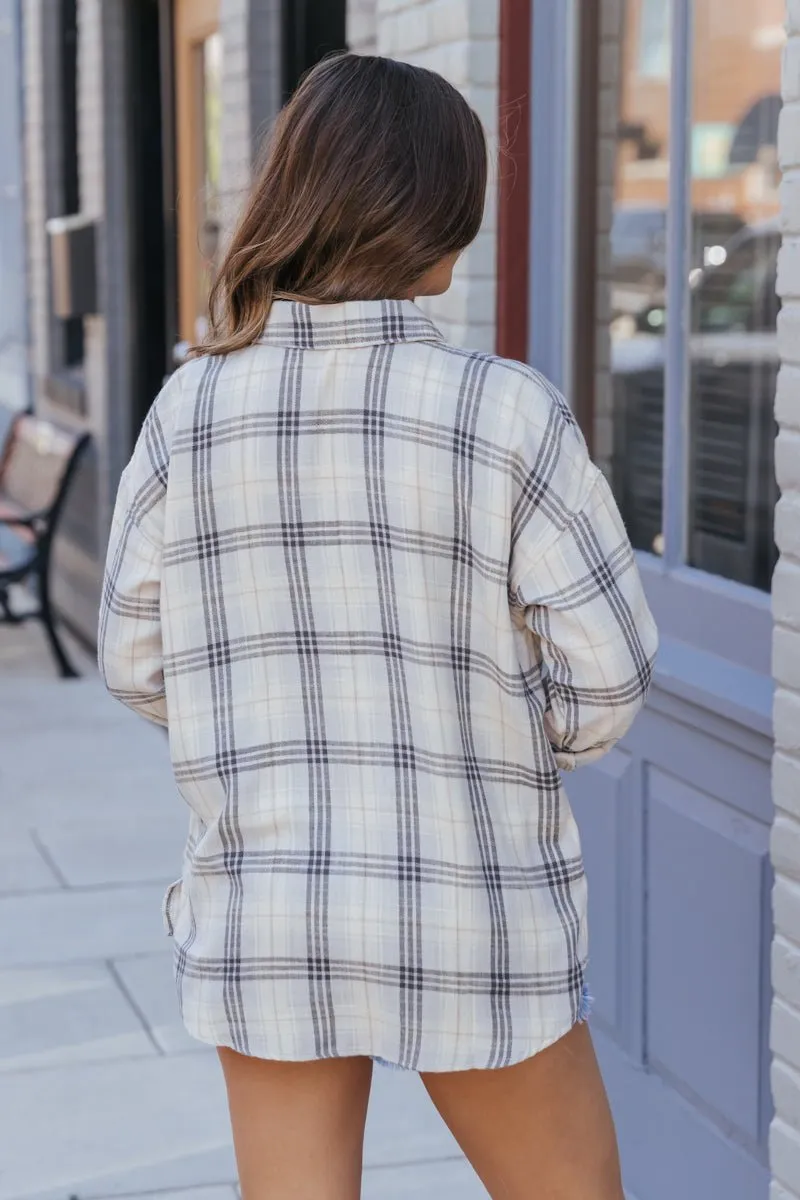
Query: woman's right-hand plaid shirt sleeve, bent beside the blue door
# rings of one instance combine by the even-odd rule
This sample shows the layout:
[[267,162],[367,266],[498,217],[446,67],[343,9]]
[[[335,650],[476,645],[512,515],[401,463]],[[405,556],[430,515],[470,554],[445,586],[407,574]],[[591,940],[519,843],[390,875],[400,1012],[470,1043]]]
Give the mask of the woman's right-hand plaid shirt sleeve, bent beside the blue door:
[[[541,446],[537,462],[542,461]],[[644,704],[657,631],[608,482],[567,421],[512,554],[512,596],[541,665],[545,728],[564,770],[606,754]]]

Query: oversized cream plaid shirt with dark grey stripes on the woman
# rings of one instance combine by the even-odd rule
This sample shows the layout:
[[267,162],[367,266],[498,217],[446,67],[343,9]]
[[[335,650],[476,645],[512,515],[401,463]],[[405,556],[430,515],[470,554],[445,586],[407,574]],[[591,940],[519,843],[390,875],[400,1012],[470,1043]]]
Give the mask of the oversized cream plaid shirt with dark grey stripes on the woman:
[[166,896],[197,1038],[501,1067],[579,1018],[560,782],[642,706],[656,634],[558,392],[410,301],[275,304],[190,362],[119,492],[100,661],[169,727]]

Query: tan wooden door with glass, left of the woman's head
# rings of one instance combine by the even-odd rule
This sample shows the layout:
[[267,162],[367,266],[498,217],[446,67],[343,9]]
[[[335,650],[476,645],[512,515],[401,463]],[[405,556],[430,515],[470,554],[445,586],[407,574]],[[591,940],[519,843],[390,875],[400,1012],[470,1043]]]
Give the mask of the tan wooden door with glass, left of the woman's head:
[[178,308],[185,342],[205,334],[219,244],[219,0],[176,0]]

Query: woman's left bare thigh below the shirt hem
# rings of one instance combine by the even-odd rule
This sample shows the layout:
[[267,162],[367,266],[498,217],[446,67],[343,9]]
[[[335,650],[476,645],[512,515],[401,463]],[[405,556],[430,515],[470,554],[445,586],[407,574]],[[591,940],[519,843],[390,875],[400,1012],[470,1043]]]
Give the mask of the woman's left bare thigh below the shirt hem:
[[372,1061],[219,1061],[242,1200],[359,1200]]

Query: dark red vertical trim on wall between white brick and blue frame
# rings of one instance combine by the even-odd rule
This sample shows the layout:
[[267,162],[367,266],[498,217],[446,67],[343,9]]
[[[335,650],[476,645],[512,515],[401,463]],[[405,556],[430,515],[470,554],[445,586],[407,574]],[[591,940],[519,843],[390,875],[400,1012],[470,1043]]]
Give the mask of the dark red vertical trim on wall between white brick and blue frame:
[[528,356],[531,0],[500,0],[497,352]]

